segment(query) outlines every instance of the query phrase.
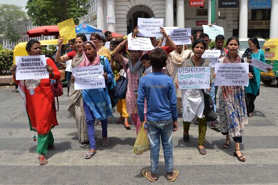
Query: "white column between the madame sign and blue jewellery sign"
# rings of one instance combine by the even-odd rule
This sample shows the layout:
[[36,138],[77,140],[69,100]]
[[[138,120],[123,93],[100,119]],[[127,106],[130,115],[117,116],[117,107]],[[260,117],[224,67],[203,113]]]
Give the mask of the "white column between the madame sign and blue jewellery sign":
[[248,33],[248,0],[240,0],[239,7],[239,38],[247,38]]

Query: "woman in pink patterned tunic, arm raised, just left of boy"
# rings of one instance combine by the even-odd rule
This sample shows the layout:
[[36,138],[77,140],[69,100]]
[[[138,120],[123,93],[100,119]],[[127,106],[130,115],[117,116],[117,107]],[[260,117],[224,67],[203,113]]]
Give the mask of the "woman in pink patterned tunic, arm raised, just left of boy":
[[139,59],[140,51],[129,50],[130,60],[120,55],[122,48],[128,43],[125,39],[119,44],[113,51],[115,58],[119,61],[127,72],[128,77],[128,88],[127,88],[127,111],[131,115],[132,121],[136,127],[136,133],[138,134],[140,128],[140,120],[137,108],[137,91],[139,85],[139,78],[142,76],[141,71],[144,69],[142,62]]

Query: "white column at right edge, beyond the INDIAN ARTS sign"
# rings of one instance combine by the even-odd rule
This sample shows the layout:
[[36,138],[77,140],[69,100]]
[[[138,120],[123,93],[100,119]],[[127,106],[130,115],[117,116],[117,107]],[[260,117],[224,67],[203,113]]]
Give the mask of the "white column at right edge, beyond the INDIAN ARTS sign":
[[278,0],[272,0],[270,15],[270,38],[278,37]]

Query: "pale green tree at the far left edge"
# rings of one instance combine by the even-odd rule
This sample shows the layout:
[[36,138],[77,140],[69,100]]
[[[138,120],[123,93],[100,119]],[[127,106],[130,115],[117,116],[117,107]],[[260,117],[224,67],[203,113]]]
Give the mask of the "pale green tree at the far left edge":
[[26,19],[26,13],[22,11],[22,7],[15,4],[0,4],[0,33],[14,42],[20,38],[13,25],[18,20]]

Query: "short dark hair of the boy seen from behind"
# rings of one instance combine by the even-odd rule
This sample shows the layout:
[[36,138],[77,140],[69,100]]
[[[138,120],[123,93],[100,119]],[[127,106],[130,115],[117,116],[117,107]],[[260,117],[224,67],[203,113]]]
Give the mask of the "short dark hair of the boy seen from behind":
[[155,48],[149,54],[150,63],[154,68],[163,68],[167,61],[167,53],[161,48]]

